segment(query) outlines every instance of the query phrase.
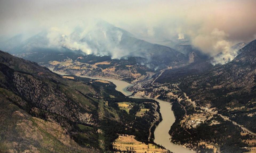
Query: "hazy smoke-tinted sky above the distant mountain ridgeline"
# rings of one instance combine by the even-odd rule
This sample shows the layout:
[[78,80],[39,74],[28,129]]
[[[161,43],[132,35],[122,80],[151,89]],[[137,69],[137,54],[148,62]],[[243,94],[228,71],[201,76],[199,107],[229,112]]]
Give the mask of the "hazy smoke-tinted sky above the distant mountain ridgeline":
[[[106,20],[151,41],[190,37],[216,54],[256,37],[255,0],[0,0],[0,36]],[[86,27],[86,26],[84,26]]]

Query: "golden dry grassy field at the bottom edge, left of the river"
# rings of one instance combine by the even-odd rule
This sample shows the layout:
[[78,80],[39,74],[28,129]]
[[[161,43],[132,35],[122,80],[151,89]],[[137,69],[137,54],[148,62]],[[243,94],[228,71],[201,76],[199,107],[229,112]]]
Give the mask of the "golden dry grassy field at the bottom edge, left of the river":
[[134,135],[127,135],[127,136],[121,136],[113,142],[113,147],[120,149],[121,151],[126,151],[126,150],[134,150],[137,153],[162,153],[162,152],[167,152],[165,149],[157,148],[157,146],[149,143],[149,145],[146,145],[145,143],[139,142],[134,139]]

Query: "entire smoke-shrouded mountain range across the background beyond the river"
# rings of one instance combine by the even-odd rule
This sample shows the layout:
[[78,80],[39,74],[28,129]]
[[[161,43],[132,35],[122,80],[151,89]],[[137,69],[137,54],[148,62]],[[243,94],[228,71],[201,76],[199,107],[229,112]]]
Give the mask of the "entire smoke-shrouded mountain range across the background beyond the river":
[[85,34],[79,27],[68,36],[60,32],[54,34],[51,32],[53,31],[43,31],[17,45],[10,44],[8,46],[11,46],[11,49],[6,51],[11,54],[25,53],[27,57],[29,57],[28,53],[65,53],[66,51],[74,54],[86,52],[86,54],[112,58],[142,57],[155,67],[179,66],[187,62],[186,56],[175,49],[139,40],[131,33],[104,21],[98,22]]

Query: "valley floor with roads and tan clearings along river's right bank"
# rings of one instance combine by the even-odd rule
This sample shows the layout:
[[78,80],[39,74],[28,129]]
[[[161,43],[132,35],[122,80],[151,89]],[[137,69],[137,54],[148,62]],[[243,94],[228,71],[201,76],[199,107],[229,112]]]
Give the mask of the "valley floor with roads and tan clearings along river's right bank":
[[[160,73],[159,76],[161,76],[161,74],[162,73]],[[173,103],[173,105],[175,103],[178,104],[176,108],[173,108],[174,112],[176,112],[175,116],[177,117],[177,120],[170,130],[170,134],[171,136],[173,136],[172,142],[178,143],[182,146],[185,146],[189,149],[193,149],[195,151],[208,150],[209,152],[214,152],[214,153],[226,152],[226,150],[223,149],[223,145],[225,146],[225,142],[220,143],[220,141],[218,140],[212,141],[211,137],[216,137],[216,136],[211,136],[210,139],[206,138],[206,135],[209,135],[209,134],[211,135],[210,131],[208,134],[203,133],[203,131],[201,131],[201,134],[205,136],[199,136],[200,140],[197,140],[196,137],[198,136],[196,137],[193,136],[192,138],[189,135],[193,135],[194,133],[197,133],[195,131],[201,129],[201,127],[203,126],[205,126],[205,128],[213,128],[213,126],[216,126],[216,127],[220,126],[219,128],[222,128],[222,126],[232,126],[230,125],[231,123],[233,124],[232,126],[234,128],[233,130],[240,135],[240,136],[239,135],[234,136],[241,139],[236,143],[238,143],[240,146],[243,146],[236,151],[238,152],[242,150],[243,150],[242,152],[254,151],[255,143],[247,142],[249,140],[255,140],[256,134],[254,132],[245,128],[243,125],[240,125],[235,121],[232,121],[229,117],[219,113],[217,108],[210,108],[211,107],[210,105],[202,106],[200,104],[196,104],[195,101],[192,101],[191,99],[189,99],[189,97],[185,92],[181,91],[181,89],[178,87],[178,84],[168,84],[168,83],[159,84],[154,82],[155,82],[155,79],[147,80],[145,82],[139,82],[139,83],[136,83],[133,87],[130,87],[129,90],[134,91],[135,96],[142,96],[145,98],[157,97],[158,99],[169,101]],[[179,109],[177,110],[178,107]],[[180,113],[183,115],[181,115]],[[177,127],[175,128],[175,126]],[[184,130],[185,133],[182,132],[182,130]],[[185,137],[191,137],[191,139],[189,138],[190,140],[185,140],[187,138],[184,137],[185,139],[182,140],[181,138],[178,138],[179,136],[178,137],[175,136],[181,133],[183,133]],[[218,136],[217,139],[223,139],[223,138],[225,138],[225,136],[222,136],[222,137]],[[232,139],[237,139],[237,138],[232,138]],[[247,142],[247,143],[244,143],[244,142]],[[225,146],[225,147],[228,147],[228,146]],[[232,146],[229,146],[229,147],[232,148]]]

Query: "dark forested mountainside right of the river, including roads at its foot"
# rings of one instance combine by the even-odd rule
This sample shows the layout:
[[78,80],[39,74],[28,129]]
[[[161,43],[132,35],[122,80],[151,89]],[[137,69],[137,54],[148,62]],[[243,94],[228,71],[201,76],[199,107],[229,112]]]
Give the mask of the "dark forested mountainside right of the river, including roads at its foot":
[[256,137],[256,40],[234,60],[163,70],[130,90],[172,103],[171,142],[196,152],[250,152]]

